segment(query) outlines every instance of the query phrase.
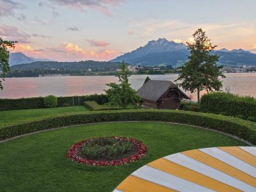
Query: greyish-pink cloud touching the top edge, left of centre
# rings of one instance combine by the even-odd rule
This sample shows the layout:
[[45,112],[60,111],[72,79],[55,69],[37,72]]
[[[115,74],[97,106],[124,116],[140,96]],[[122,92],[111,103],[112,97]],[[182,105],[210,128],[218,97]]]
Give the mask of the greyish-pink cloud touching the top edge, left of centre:
[[95,10],[99,10],[100,12],[111,16],[109,13],[109,6],[116,6],[119,3],[122,3],[124,0],[77,0],[77,1],[70,1],[70,0],[49,0],[52,3],[60,4],[62,6],[67,6],[68,8],[74,8],[77,10],[86,10],[86,8],[92,8]]

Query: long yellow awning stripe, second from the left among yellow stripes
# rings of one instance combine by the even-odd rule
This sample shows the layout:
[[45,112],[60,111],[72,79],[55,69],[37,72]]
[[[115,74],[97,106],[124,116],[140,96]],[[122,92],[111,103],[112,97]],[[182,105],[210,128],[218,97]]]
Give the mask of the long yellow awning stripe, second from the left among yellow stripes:
[[236,188],[233,188],[232,186],[223,184],[218,180],[212,179],[210,177],[202,175],[201,173],[195,172],[193,170],[190,170],[189,168],[186,168],[163,158],[149,163],[148,166],[152,166],[153,168],[157,168],[158,170],[161,170],[163,172],[175,175],[180,179],[188,180],[189,182],[193,182],[214,191],[240,191]]

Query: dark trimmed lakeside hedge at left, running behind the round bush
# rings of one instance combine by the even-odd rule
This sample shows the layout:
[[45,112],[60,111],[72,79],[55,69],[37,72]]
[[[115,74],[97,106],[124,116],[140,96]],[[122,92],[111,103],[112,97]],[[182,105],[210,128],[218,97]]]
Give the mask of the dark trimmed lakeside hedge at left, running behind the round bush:
[[[67,106],[83,106],[83,102],[94,100],[99,104],[108,102],[107,95],[85,95],[72,97],[57,97],[58,107]],[[40,109],[45,108],[44,97],[21,98],[21,99],[0,99],[0,110],[16,110],[16,109]]]

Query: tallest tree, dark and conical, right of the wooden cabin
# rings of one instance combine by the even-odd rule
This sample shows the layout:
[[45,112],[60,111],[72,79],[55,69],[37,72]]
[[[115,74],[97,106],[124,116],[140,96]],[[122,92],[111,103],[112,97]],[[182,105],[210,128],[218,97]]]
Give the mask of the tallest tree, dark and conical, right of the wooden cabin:
[[225,76],[221,72],[223,66],[217,65],[219,56],[211,54],[217,46],[211,44],[205,31],[202,28],[197,29],[193,39],[193,43],[187,42],[188,61],[178,68],[180,74],[175,81],[182,81],[178,85],[186,91],[191,93],[197,91],[198,103],[200,103],[200,91],[220,91],[222,82],[219,77],[225,78]]

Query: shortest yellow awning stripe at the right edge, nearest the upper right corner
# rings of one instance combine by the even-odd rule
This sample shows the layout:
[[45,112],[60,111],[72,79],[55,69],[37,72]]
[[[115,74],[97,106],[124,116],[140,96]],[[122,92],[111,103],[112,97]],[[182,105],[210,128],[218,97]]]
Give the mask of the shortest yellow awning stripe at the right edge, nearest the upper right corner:
[[256,157],[248,152],[244,151],[239,147],[219,147],[221,150],[227,152],[228,154],[241,159],[245,163],[248,163],[256,167]]

